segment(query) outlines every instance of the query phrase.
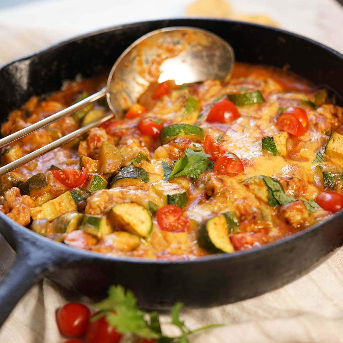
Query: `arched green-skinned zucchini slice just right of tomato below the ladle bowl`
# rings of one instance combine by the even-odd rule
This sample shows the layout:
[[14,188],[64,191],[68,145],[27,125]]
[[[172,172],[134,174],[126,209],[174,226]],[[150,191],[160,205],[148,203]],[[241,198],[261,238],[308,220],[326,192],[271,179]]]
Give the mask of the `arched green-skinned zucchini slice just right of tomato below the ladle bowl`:
[[201,142],[204,138],[204,130],[196,125],[174,124],[161,129],[161,143],[165,144],[178,136],[190,138],[194,142]]

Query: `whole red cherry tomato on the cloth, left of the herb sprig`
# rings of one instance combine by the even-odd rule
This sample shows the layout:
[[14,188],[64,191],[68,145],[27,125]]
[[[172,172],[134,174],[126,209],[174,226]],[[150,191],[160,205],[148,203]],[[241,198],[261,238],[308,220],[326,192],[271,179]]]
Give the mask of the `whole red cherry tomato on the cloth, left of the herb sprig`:
[[79,303],[69,303],[58,310],[56,321],[63,335],[81,337],[86,332],[90,317],[91,312],[87,306]]

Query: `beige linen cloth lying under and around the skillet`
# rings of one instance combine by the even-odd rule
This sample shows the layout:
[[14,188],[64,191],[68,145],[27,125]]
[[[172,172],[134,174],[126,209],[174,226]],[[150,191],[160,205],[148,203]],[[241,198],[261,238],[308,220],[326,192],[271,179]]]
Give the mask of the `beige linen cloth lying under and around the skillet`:
[[[90,10],[94,2],[55,0],[2,10],[0,64],[96,28],[182,16],[189,2],[97,0],[97,6]],[[234,5],[240,13],[249,9],[248,14],[268,14],[281,27],[343,52],[339,35],[343,10],[334,0],[240,0]],[[0,237],[0,278],[13,259],[14,253]],[[74,300],[91,304],[89,299],[79,298],[44,280],[32,287],[15,307],[0,330],[0,343],[64,342],[56,327],[55,310]],[[276,291],[236,304],[185,310],[183,319],[191,328],[226,324],[194,335],[191,339],[194,343],[343,342],[343,248],[308,275]],[[169,326],[164,329],[166,333],[173,332]]]

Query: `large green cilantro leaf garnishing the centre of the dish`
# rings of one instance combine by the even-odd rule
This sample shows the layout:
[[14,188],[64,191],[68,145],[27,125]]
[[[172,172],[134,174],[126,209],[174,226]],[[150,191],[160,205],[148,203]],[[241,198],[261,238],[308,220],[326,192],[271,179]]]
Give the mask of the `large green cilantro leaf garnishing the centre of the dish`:
[[168,181],[179,176],[189,176],[195,180],[201,173],[208,170],[209,160],[207,157],[211,157],[211,155],[196,152],[189,148],[186,149],[185,154],[185,157],[181,157],[176,161]]

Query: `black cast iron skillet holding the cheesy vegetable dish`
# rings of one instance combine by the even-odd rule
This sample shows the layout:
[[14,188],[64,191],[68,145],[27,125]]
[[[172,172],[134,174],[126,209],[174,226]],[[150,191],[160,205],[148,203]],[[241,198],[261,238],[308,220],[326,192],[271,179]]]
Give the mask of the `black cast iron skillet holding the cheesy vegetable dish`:
[[[343,104],[343,56],[279,29],[225,20],[158,20],[87,34],[0,69],[1,121],[32,95],[58,90],[63,80],[110,67],[143,34],[166,26],[195,26],[222,36],[238,61],[289,69],[334,92]],[[262,248],[199,258],[152,261],[108,257],[42,237],[0,213],[0,231],[17,258],[0,284],[0,324],[22,295],[44,276],[73,291],[99,297],[111,284],[138,296],[145,308],[164,309],[177,300],[189,307],[223,305],[268,292],[309,272],[343,244],[343,213]]]

